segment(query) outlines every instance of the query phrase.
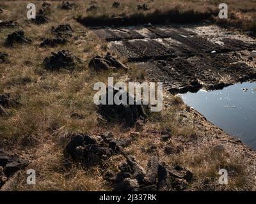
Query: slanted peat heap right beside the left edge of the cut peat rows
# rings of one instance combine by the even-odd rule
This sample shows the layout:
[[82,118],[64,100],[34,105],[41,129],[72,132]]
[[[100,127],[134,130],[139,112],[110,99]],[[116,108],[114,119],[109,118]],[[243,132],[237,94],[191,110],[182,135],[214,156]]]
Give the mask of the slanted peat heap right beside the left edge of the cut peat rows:
[[122,64],[122,62],[115,59],[115,57],[111,56],[109,53],[106,57],[95,56],[89,62],[89,68],[94,71],[102,71],[108,69],[127,69],[127,67]]

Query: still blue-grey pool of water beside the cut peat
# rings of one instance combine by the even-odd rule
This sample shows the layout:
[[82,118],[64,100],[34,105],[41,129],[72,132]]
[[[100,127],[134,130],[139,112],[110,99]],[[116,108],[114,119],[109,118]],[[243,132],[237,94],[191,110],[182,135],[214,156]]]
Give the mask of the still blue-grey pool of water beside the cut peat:
[[207,120],[256,149],[256,83],[244,82],[218,91],[180,94]]

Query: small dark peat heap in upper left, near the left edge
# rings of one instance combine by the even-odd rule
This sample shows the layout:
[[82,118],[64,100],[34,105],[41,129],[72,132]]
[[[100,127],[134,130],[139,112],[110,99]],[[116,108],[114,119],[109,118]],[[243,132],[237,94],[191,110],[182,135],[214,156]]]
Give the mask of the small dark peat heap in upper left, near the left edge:
[[15,31],[11,34],[8,34],[6,38],[6,46],[13,47],[15,44],[28,44],[31,43],[31,40],[29,38],[26,38],[24,36],[24,31]]

